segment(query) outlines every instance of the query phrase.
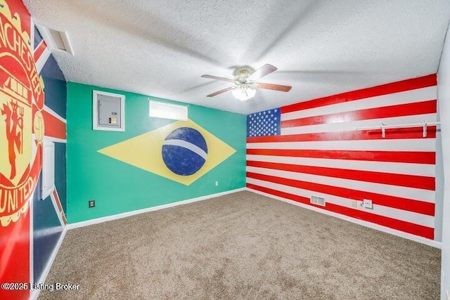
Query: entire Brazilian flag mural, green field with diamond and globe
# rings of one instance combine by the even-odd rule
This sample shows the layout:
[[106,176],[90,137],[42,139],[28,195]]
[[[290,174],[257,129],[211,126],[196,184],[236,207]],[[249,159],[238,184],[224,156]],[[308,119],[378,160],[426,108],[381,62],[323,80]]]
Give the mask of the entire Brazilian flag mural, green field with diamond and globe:
[[[125,131],[92,130],[93,91],[125,96]],[[190,104],[161,119],[150,100],[176,104],[68,82],[68,223],[245,188],[246,115]]]

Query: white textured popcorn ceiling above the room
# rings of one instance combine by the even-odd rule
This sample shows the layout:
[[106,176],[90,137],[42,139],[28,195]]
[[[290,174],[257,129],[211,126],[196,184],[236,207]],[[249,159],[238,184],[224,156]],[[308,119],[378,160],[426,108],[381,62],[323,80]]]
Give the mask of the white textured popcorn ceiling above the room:
[[[53,53],[68,81],[248,114],[436,73],[450,0],[25,0],[34,21],[67,30]],[[234,67],[278,70],[241,102]]]

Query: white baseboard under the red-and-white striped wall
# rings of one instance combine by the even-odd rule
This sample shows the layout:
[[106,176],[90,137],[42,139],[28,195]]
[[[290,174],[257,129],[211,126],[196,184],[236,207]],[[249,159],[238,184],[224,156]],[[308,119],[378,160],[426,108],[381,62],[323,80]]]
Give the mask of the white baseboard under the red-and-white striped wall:
[[389,227],[385,227],[385,226],[381,226],[381,225],[378,225],[378,224],[375,224],[375,223],[371,223],[371,222],[368,222],[368,221],[362,221],[362,220],[359,220],[359,219],[352,218],[351,216],[345,216],[345,215],[342,215],[342,214],[335,213],[333,211],[327,211],[325,209],[319,209],[317,207],[312,207],[311,205],[307,205],[307,204],[300,203],[300,202],[295,202],[293,200],[288,200],[288,199],[285,199],[283,197],[278,197],[278,196],[275,196],[275,195],[271,195],[271,194],[268,194],[268,193],[261,192],[259,190],[253,190],[252,188],[247,188],[247,190],[249,190],[252,193],[257,193],[259,195],[264,195],[264,196],[272,198],[272,199],[281,200],[283,202],[287,202],[287,203],[290,203],[290,204],[297,205],[297,207],[303,207],[305,209],[310,209],[310,210],[313,210],[313,211],[320,212],[321,214],[326,214],[328,216],[334,216],[336,218],[339,218],[339,219],[342,219],[342,220],[345,220],[345,221],[356,223],[356,224],[359,224],[359,225],[362,225],[362,226],[366,226],[368,228],[372,228],[372,229],[375,229],[375,230],[380,230],[380,231],[383,231],[384,233],[390,233],[392,235],[397,235],[399,237],[404,237],[404,238],[406,238],[408,240],[413,240],[414,242],[420,242],[422,244],[427,244],[428,246],[435,247],[435,248],[438,248],[438,249],[442,248],[442,243],[441,242],[437,242],[435,240],[429,240],[429,239],[426,239],[425,237],[419,237],[417,235],[411,235],[411,233],[404,233],[403,231],[400,231],[400,230],[395,230],[395,229],[392,229],[392,228],[389,228]]

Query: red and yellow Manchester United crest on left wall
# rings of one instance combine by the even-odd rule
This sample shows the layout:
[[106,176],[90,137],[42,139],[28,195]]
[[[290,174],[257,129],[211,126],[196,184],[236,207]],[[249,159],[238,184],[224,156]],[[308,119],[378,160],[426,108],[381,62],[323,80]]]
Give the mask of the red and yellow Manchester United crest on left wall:
[[[14,75],[13,75],[14,74]],[[0,0],[0,223],[15,222],[28,207],[41,171],[43,80],[30,36],[18,14]]]

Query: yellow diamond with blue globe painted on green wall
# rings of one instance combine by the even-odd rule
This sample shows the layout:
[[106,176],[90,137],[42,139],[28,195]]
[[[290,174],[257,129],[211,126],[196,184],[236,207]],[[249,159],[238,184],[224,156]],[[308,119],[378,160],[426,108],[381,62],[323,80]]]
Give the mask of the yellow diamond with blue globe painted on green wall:
[[192,120],[178,121],[98,150],[103,155],[190,185],[236,152]]

